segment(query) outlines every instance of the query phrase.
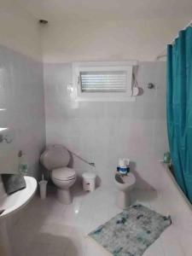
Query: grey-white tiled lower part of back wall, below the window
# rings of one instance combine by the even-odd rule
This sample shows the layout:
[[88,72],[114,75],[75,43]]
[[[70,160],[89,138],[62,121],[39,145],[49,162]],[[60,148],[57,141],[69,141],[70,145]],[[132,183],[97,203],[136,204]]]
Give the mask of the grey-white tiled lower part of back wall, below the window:
[[[156,162],[166,151],[166,65],[142,62],[138,84],[143,95],[137,102],[79,102],[69,96],[71,64],[44,64],[47,143],[62,143],[96,163],[96,169],[74,158],[79,172],[92,170],[102,183],[113,183],[119,157],[129,157],[137,172],[137,187],[157,187]],[[156,90],[147,90],[152,82]]]

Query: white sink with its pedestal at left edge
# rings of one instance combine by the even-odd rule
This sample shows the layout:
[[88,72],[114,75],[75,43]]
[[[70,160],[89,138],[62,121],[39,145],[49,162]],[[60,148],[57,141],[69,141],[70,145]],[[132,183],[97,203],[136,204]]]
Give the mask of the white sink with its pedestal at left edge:
[[0,210],[4,212],[0,215],[0,255],[11,256],[11,247],[6,228],[6,217],[14,214],[24,207],[35,194],[38,183],[34,177],[25,176],[26,189],[15,192],[12,195],[3,194],[0,197]]

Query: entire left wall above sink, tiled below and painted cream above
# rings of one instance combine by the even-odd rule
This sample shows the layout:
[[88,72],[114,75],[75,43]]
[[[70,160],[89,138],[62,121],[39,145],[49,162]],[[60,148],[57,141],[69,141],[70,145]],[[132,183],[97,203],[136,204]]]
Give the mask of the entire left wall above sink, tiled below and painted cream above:
[[44,148],[44,81],[38,20],[14,0],[0,0],[0,127],[13,143],[0,144],[0,173],[18,171],[26,152],[29,175],[38,177]]

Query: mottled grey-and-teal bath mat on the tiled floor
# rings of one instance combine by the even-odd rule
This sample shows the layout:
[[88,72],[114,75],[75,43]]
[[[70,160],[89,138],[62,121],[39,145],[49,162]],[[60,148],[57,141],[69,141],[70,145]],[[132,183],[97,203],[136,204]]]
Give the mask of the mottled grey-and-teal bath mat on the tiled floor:
[[89,236],[114,256],[141,256],[171,224],[171,217],[142,205],[133,205]]

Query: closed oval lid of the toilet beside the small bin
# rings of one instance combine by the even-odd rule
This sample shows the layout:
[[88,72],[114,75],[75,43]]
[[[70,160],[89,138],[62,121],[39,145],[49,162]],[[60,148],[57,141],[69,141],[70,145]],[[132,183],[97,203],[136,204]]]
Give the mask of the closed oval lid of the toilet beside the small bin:
[[57,168],[52,171],[52,177],[55,179],[68,180],[74,178],[75,176],[75,171],[68,167]]

